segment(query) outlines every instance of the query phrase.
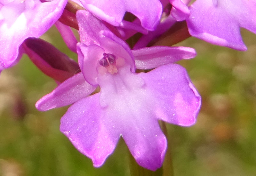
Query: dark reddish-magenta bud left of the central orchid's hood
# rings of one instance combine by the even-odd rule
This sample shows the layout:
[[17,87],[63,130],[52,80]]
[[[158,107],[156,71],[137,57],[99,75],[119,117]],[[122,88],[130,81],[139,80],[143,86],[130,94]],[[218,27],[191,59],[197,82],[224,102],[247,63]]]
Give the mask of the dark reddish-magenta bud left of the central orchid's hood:
[[63,82],[80,71],[74,60],[42,39],[28,38],[22,46],[36,67],[58,82]]

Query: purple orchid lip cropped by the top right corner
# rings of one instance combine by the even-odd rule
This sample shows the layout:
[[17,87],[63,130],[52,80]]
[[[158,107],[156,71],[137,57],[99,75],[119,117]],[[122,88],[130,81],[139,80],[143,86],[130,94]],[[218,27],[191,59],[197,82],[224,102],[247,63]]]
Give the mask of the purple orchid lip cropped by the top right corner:
[[240,27],[256,33],[255,0],[196,0],[189,10],[189,33],[212,44],[246,50]]

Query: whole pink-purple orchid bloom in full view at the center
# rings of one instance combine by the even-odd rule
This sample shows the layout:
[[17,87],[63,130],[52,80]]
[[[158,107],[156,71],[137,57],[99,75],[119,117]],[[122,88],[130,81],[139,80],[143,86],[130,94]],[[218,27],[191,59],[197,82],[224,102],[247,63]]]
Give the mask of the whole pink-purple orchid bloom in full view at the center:
[[[186,70],[173,62],[196,53],[188,47],[131,50],[90,12],[77,11],[82,70],[36,103],[39,110],[72,104],[60,131],[101,166],[123,137],[137,163],[161,167],[167,148],[158,120],[181,126],[196,122],[201,98]],[[157,67],[157,68],[155,68]],[[154,70],[135,73],[135,68]],[[100,92],[90,95],[96,87]]]

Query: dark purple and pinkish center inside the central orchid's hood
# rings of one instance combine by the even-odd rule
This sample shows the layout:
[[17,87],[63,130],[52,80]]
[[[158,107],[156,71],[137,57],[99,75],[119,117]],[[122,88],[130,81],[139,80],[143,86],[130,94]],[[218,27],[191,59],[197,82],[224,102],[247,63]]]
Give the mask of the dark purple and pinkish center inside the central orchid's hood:
[[115,74],[118,72],[118,68],[124,65],[124,59],[111,53],[103,53],[103,58],[100,59],[99,64],[104,67],[99,68],[101,74],[106,72]]

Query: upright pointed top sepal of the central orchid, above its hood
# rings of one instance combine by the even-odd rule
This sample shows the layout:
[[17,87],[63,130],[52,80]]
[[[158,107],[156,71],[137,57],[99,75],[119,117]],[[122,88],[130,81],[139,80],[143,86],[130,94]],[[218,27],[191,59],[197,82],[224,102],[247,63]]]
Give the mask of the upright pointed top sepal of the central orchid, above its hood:
[[80,41],[85,45],[99,44],[100,31],[108,28],[88,11],[77,11]]

